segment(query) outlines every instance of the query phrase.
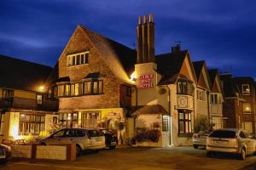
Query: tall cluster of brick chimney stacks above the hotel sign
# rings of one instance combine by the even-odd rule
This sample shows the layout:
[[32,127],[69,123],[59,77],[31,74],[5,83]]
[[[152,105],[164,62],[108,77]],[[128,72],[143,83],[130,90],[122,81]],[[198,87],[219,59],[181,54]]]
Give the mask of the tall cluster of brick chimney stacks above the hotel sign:
[[154,21],[153,14],[139,17],[137,26],[137,64],[154,62]]

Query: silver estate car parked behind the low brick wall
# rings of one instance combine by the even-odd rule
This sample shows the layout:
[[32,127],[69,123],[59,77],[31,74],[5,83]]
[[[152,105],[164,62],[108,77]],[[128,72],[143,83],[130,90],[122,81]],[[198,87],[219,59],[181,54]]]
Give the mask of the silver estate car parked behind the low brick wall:
[[97,129],[63,128],[49,137],[41,139],[40,144],[70,144],[76,142],[76,155],[82,150],[99,150],[106,147],[104,134]]

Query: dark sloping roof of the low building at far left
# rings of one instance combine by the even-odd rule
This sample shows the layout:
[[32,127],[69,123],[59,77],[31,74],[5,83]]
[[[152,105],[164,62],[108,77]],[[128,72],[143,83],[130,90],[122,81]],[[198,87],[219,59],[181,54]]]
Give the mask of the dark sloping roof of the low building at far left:
[[0,87],[38,91],[52,68],[0,54]]

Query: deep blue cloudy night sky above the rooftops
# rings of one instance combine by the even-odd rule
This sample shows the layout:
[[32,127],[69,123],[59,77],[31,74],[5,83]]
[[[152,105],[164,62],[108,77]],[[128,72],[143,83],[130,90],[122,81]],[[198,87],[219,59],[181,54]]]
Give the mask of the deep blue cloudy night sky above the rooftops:
[[181,42],[193,61],[256,77],[254,0],[1,0],[0,54],[53,66],[79,24],[135,48],[137,17],[149,13],[156,54]]

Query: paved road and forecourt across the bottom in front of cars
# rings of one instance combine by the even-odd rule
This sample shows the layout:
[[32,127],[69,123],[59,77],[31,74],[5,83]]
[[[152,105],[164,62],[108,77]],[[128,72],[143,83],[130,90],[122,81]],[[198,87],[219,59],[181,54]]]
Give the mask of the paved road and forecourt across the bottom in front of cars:
[[256,170],[256,156],[247,156],[245,161],[234,156],[206,156],[206,150],[192,147],[170,149],[121,148],[85,153],[77,161],[9,161],[1,166],[5,170],[107,170],[107,169],[239,169]]

